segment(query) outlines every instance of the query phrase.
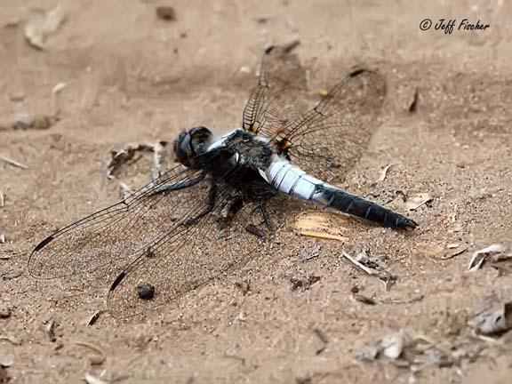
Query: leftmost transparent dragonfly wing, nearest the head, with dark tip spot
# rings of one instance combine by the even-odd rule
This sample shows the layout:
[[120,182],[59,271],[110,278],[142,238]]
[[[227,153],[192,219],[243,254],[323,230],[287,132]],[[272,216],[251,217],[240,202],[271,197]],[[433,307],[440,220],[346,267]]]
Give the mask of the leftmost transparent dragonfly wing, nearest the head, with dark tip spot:
[[[156,193],[164,188],[172,190]],[[28,271],[43,279],[115,275],[152,239],[207,204],[208,188],[200,172],[178,165],[123,201],[44,239],[30,254]]]

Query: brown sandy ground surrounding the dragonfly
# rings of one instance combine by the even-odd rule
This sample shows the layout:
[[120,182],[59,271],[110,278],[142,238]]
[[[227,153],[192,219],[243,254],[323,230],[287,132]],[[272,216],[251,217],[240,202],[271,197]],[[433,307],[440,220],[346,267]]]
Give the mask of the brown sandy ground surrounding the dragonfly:
[[[471,252],[512,235],[510,4],[175,1],[168,2],[173,21],[156,19],[161,4],[68,1],[67,22],[39,51],[25,41],[23,24],[30,10],[55,2],[2,1],[0,155],[28,169],[0,161],[0,297],[10,312],[0,318],[0,363],[9,365],[0,373],[15,383],[84,382],[87,372],[128,383],[509,382],[508,335],[480,340],[466,321],[492,292],[503,299],[512,292],[508,273],[488,266],[467,272]],[[490,28],[421,31],[425,18],[468,18]],[[28,276],[38,241],[116,201],[116,181],[102,175],[111,148],[172,140],[196,124],[235,127],[262,50],[296,38],[308,68],[335,77],[364,64],[387,76],[383,123],[343,187],[383,203],[397,190],[432,194],[409,212],[420,228],[404,234],[349,223],[345,242],[284,229],[279,252],[143,318],[105,315],[92,326],[85,323],[104,305],[103,294]],[[52,96],[60,83],[66,87]],[[415,90],[420,98],[410,114]],[[47,129],[9,124],[16,114],[56,111],[60,121]],[[395,165],[377,182],[386,164]],[[446,259],[454,243],[468,250]],[[397,276],[389,291],[340,258],[364,249]],[[308,276],[320,280],[292,290],[291,278]],[[246,294],[236,287],[241,281],[249,282]],[[354,286],[376,304],[355,300]],[[53,341],[44,331],[52,321]],[[478,352],[415,374],[388,359],[357,358],[396,330]],[[84,342],[106,359],[95,361]]]

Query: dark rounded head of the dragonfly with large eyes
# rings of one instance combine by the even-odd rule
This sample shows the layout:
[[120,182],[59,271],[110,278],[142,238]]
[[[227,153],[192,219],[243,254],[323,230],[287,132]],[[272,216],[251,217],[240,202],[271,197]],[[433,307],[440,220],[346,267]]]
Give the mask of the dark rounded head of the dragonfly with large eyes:
[[195,157],[203,154],[212,143],[213,133],[204,126],[181,132],[174,140],[174,155],[181,164],[194,167]]

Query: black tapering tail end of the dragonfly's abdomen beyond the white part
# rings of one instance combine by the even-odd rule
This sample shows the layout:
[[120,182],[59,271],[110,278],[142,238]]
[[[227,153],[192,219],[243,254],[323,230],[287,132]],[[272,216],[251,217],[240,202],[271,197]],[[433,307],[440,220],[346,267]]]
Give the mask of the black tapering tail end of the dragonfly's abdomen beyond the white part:
[[365,220],[373,221],[384,227],[414,229],[418,224],[400,213],[384,208],[382,205],[366,200],[364,197],[345,192],[329,185],[317,185],[312,200],[324,204],[326,208],[348,213]]

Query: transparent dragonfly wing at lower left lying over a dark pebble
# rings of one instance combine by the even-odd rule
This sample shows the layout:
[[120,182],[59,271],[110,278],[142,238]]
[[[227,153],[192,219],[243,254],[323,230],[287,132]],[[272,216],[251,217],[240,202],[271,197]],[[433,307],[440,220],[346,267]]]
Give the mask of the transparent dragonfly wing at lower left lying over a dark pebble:
[[[259,206],[246,204],[225,219],[236,205],[233,192],[224,188],[213,211],[199,222],[182,224],[149,244],[149,252],[139,252],[109,292],[108,308],[115,316],[132,316],[168,304],[252,255],[266,252],[271,233]],[[140,298],[138,286],[151,287],[150,300]]]

